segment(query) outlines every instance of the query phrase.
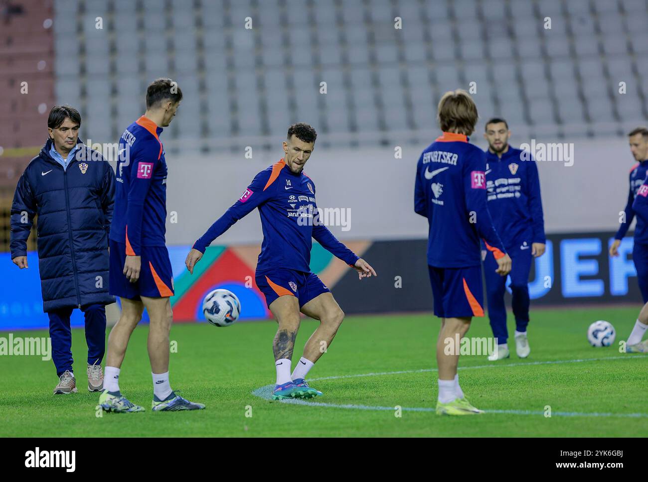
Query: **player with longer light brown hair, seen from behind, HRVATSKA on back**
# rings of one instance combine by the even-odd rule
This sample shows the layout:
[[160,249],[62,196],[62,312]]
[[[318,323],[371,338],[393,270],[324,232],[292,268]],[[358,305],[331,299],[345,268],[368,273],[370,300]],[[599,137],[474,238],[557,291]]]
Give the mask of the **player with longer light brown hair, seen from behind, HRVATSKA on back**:
[[493,253],[500,276],[511,270],[511,258],[486,207],[485,155],[468,142],[477,123],[477,106],[466,91],[446,92],[437,119],[443,135],[422,152],[414,191],[414,211],[430,226],[428,268],[434,314],[441,318],[436,412],[474,415],[481,410],[469,403],[459,386],[459,347],[452,349],[452,344],[467,333],[473,316],[484,316],[480,238]]

